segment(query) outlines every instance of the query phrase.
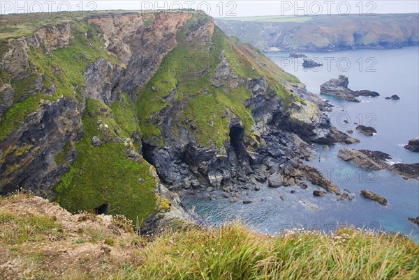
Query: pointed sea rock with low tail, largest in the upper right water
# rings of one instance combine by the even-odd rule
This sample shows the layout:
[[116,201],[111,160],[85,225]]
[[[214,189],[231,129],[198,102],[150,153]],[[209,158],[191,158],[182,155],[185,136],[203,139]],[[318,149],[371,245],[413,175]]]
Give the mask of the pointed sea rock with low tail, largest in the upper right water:
[[337,98],[341,98],[353,102],[361,102],[358,96],[379,96],[375,91],[352,91],[348,88],[349,79],[344,75],[339,75],[338,79],[330,79],[320,86],[320,93],[325,95],[333,95]]

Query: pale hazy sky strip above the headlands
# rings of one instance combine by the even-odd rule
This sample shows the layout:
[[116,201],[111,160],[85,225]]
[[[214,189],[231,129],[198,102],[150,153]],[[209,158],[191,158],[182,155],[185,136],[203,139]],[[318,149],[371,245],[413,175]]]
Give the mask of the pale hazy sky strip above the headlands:
[[37,13],[79,10],[154,10],[200,8],[213,17],[250,15],[319,15],[419,13],[419,1],[0,1],[0,13]]

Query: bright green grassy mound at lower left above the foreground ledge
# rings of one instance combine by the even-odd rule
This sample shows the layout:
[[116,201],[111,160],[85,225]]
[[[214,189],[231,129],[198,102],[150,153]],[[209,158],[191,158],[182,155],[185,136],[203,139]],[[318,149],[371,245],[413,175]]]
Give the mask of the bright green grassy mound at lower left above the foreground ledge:
[[[123,104],[124,101],[115,107]],[[127,115],[129,118],[129,113]],[[125,116],[118,118],[124,120],[123,127],[126,126],[129,119]],[[141,223],[157,210],[153,167],[142,158],[138,162],[128,160],[124,141],[112,141],[117,137],[114,130],[128,135],[131,127],[119,127],[112,118],[111,109],[93,99],[86,101],[82,122],[84,136],[75,144],[78,156],[55,187],[57,201],[71,212],[92,210],[108,203],[110,214],[123,213],[128,219]],[[112,139],[95,147],[91,143],[94,136],[102,141],[107,137]]]

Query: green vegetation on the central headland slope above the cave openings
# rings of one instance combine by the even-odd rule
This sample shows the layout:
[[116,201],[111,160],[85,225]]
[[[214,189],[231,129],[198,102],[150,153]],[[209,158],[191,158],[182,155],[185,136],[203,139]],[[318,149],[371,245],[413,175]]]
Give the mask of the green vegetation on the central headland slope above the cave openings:
[[[177,33],[177,47],[165,56],[156,75],[138,91],[136,104],[141,128],[149,141],[159,139],[158,144],[163,144],[158,112],[164,107],[173,106],[173,102],[167,99],[174,91],[175,100],[187,103],[177,125],[193,123],[196,126],[193,134],[201,145],[220,148],[223,141],[228,140],[228,119],[222,117],[226,111],[239,116],[245,127],[245,135],[251,134],[251,108],[244,106],[244,101],[251,98],[251,91],[245,83],[239,88],[228,84],[222,88],[211,85],[210,78],[221,63],[221,54],[228,59],[230,68],[240,79],[264,77],[284,102],[289,103],[290,93],[281,84],[285,80],[298,79],[278,68],[258,49],[228,38],[216,26],[211,45],[189,39],[190,34],[196,32],[199,26],[205,26],[208,20],[208,17],[194,14],[182,26]],[[189,126],[186,128],[190,129]]]

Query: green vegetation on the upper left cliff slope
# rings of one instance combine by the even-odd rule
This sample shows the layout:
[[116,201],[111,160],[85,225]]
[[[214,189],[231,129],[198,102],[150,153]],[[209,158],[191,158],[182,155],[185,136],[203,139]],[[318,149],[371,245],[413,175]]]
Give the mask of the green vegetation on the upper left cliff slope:
[[[83,71],[90,63],[103,57],[116,63],[116,59],[102,49],[104,42],[98,37],[98,26],[78,22],[73,31],[70,45],[61,49],[52,50],[52,56],[45,54],[43,47],[29,50],[29,63],[33,74],[25,79],[10,81],[15,88],[15,101],[31,89],[31,84],[43,75],[43,88],[40,93],[29,96],[20,102],[15,102],[2,116],[0,124],[0,141],[13,132],[29,114],[39,109],[39,102],[44,100],[57,100],[65,97],[75,98],[75,88],[84,86]],[[87,36],[85,35],[87,34]],[[10,77],[9,77],[10,79]],[[54,95],[45,95],[54,79]]]

